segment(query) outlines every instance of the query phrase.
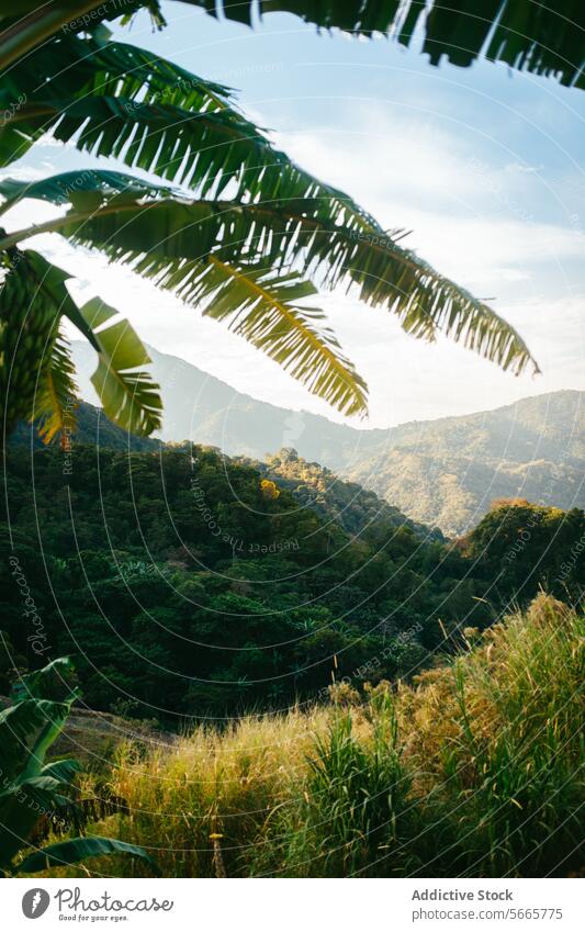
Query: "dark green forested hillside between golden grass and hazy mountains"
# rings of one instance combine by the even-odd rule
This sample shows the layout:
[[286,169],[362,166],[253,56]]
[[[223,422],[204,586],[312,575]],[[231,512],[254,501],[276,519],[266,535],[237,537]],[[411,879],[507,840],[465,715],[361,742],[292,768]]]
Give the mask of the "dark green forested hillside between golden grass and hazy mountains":
[[[95,708],[176,722],[281,708],[333,677],[408,678],[510,599],[584,582],[576,509],[500,505],[455,546],[360,494],[348,531],[334,512],[351,490],[294,459],[77,445],[64,470],[65,456],[8,454],[2,629],[19,669],[75,655]],[[340,501],[310,501],[323,476]]]

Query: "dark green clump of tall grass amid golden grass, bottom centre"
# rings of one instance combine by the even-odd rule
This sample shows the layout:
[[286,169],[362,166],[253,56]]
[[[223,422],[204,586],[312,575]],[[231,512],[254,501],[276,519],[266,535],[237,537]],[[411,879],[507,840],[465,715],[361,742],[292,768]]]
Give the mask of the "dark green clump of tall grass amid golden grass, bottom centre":
[[280,838],[273,833],[272,845],[259,849],[256,873],[270,868],[279,846],[282,869],[292,876],[375,876],[389,861],[395,872],[414,866],[407,850],[416,830],[412,778],[394,698],[379,690],[364,711],[369,733],[356,736],[357,716],[336,710],[327,734],[315,740],[303,791],[283,807]]

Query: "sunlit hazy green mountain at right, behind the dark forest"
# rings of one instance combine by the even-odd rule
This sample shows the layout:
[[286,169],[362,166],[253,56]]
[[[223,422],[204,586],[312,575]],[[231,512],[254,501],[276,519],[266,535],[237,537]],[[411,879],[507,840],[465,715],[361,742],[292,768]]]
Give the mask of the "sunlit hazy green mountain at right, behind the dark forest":
[[494,499],[585,505],[585,393],[553,392],[464,417],[404,424],[342,473],[415,520],[469,530]]

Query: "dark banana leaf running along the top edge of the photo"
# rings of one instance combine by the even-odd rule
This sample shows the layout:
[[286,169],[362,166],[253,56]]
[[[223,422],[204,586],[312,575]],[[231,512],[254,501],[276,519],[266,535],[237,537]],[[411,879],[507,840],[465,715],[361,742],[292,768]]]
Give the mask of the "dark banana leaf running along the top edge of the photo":
[[[533,0],[182,0],[252,25],[255,16],[286,12],[324,30],[350,35],[387,35],[409,46],[419,33],[421,49],[438,65],[445,56],[469,67],[479,57],[530,71],[552,75],[562,83],[585,87],[583,32],[585,9],[581,0],[535,3]],[[30,50],[58,29],[71,23],[95,25],[121,13],[132,16],[139,8],[150,12],[155,26],[165,24],[157,0],[53,0],[42,8],[35,0],[16,0],[0,11],[7,40],[0,68]]]

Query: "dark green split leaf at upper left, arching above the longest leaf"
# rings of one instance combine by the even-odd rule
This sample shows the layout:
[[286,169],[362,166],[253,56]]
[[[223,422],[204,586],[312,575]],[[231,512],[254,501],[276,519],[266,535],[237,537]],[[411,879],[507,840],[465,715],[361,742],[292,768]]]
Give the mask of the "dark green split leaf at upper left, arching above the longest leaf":
[[292,165],[262,131],[232,110],[192,112],[121,97],[30,103],[0,127],[0,162],[22,157],[41,135],[92,156],[120,159],[201,194],[233,184],[239,196],[277,196]]

